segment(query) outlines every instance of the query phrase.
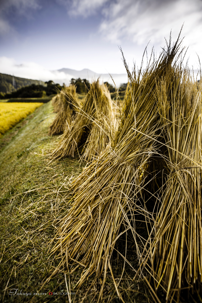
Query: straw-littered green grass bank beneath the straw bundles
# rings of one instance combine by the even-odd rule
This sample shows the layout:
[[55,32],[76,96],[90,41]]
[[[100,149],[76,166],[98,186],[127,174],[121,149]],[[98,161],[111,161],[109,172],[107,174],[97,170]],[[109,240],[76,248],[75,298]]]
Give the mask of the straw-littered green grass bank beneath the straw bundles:
[[[98,299],[101,281],[94,281],[93,275],[82,289],[75,288],[82,268],[78,267],[72,274],[64,269],[52,275],[61,259],[50,255],[54,245],[50,242],[60,218],[70,207],[69,183],[82,170],[78,158],[48,163],[44,156],[59,140],[56,136],[47,136],[54,117],[51,103],[44,104],[0,139],[0,299],[3,302],[69,302],[67,295],[47,294],[66,292],[65,274],[68,288],[76,293],[71,296],[72,302]],[[137,268],[136,251],[129,234],[127,247],[128,260]],[[116,249],[125,255],[124,239],[118,241]],[[117,251],[112,258],[114,278],[120,279],[124,259]],[[119,285],[124,301],[152,302],[144,283],[132,281],[134,270],[128,264],[125,269]],[[45,283],[50,276],[50,281]],[[103,302],[120,302],[109,271],[105,285]],[[10,296],[12,288],[32,295]],[[34,292],[47,295],[34,296]]]

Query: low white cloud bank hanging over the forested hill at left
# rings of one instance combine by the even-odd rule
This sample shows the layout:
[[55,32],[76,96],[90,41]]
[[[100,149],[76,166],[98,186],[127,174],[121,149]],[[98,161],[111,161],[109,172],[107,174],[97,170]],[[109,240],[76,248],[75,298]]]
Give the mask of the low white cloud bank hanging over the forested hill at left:
[[53,80],[55,83],[68,85],[73,76],[64,72],[49,71],[34,62],[23,62],[17,65],[15,60],[7,57],[0,57],[0,71],[3,74],[14,75],[16,77],[28,78],[41,81]]

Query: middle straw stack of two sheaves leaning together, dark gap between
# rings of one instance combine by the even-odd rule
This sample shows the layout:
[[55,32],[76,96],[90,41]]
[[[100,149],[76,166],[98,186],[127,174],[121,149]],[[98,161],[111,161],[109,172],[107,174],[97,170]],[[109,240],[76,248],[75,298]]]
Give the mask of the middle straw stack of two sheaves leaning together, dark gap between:
[[72,156],[84,144],[82,158],[91,161],[100,155],[109,143],[108,128],[111,128],[112,104],[107,87],[93,82],[84,99],[82,109],[78,111],[75,120],[66,128],[58,147],[51,158]]

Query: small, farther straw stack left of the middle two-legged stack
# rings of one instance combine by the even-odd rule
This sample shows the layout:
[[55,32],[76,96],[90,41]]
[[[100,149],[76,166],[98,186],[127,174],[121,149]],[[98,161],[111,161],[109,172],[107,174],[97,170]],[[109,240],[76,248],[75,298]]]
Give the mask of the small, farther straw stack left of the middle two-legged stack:
[[54,112],[58,114],[49,126],[48,135],[63,133],[65,129],[71,125],[72,120],[75,118],[76,111],[81,107],[75,85],[64,88],[60,94],[54,98],[52,105]]

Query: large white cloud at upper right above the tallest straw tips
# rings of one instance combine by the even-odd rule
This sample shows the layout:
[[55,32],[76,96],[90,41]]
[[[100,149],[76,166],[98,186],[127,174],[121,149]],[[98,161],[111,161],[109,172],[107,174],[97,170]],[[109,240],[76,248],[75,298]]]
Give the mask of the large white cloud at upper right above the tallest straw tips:
[[[65,3],[70,15],[103,15],[100,33],[111,43],[145,46],[149,41],[155,49],[165,45],[164,37],[175,41],[184,23],[181,37],[188,53],[202,57],[201,0],[58,0]],[[195,60],[195,58],[194,58]]]

